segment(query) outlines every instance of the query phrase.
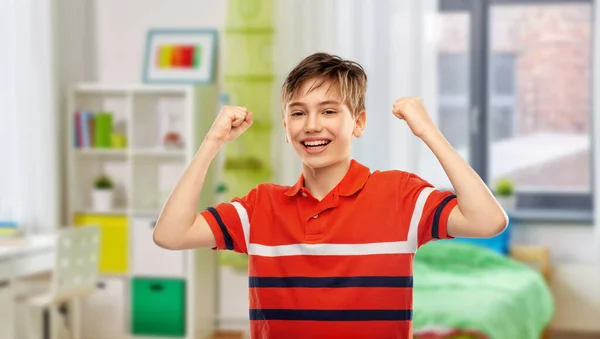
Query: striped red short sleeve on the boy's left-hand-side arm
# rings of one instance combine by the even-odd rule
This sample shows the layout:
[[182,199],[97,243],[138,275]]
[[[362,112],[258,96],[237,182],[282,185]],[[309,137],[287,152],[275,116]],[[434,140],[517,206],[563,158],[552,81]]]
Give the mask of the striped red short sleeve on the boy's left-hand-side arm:
[[200,212],[215,236],[215,250],[248,253],[250,223],[256,205],[256,188],[246,196],[234,198]]

